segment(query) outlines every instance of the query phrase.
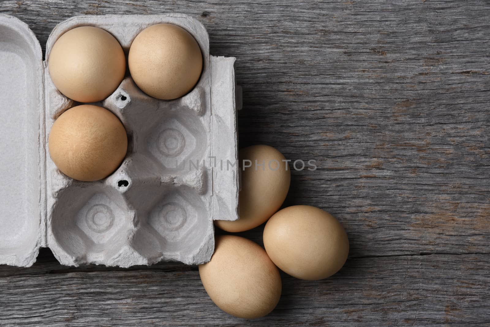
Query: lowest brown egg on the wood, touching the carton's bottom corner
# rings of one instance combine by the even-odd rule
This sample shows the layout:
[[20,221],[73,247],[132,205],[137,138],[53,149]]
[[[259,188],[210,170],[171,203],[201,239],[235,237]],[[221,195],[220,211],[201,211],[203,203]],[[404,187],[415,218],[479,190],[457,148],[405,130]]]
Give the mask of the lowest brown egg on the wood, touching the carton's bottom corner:
[[199,276],[211,300],[239,318],[263,317],[281,297],[277,267],[262,247],[243,237],[217,236],[215,253],[199,265]]

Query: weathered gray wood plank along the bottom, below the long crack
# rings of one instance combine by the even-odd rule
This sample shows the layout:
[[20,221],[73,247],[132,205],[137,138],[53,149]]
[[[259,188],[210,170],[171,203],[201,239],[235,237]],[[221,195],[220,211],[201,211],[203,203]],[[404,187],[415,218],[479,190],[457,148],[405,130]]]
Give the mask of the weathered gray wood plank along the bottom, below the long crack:
[[[349,259],[327,280],[283,278],[283,295],[257,326],[490,324],[487,255]],[[16,270],[16,269],[13,269]],[[64,268],[41,260],[0,278],[2,326],[248,326],[208,298],[196,267]],[[28,272],[26,274],[26,272]],[[4,273],[4,269],[2,269]]]

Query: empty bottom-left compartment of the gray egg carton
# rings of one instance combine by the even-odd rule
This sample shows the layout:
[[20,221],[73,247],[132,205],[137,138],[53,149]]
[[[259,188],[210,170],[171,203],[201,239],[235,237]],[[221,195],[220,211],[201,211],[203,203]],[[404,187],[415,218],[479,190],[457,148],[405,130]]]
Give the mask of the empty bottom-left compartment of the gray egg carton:
[[60,190],[49,229],[52,251],[66,264],[117,261],[127,247],[135,212],[114,187],[95,183]]

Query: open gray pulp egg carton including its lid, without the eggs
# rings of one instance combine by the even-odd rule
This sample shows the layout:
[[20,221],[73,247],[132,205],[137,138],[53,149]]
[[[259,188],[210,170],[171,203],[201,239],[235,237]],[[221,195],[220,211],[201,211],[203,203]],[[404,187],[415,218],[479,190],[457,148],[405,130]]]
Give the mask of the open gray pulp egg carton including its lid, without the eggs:
[[[123,163],[97,182],[65,176],[49,157],[49,131],[78,103],[51,81],[54,43],[74,27],[92,25],[110,32],[127,54],[136,35],[157,23],[181,26],[196,39],[203,55],[196,87],[179,99],[158,100],[141,92],[126,70],[119,88],[97,103],[123,122]],[[211,56],[206,29],[183,14],[70,18],[52,30],[43,61],[29,27],[0,15],[0,264],[30,266],[40,247],[73,266],[209,261],[213,220],[238,219],[241,90],[234,61]]]

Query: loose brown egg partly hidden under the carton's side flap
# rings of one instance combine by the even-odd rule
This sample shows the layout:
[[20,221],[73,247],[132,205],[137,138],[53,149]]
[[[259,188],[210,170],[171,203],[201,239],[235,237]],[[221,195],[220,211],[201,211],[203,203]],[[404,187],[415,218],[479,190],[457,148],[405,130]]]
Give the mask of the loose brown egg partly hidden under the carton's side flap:
[[249,160],[245,164],[251,166],[242,170],[240,219],[215,221],[216,226],[228,232],[243,232],[263,224],[279,210],[291,183],[291,171],[283,161],[286,158],[269,145],[252,145],[240,150],[240,164],[244,160]]

